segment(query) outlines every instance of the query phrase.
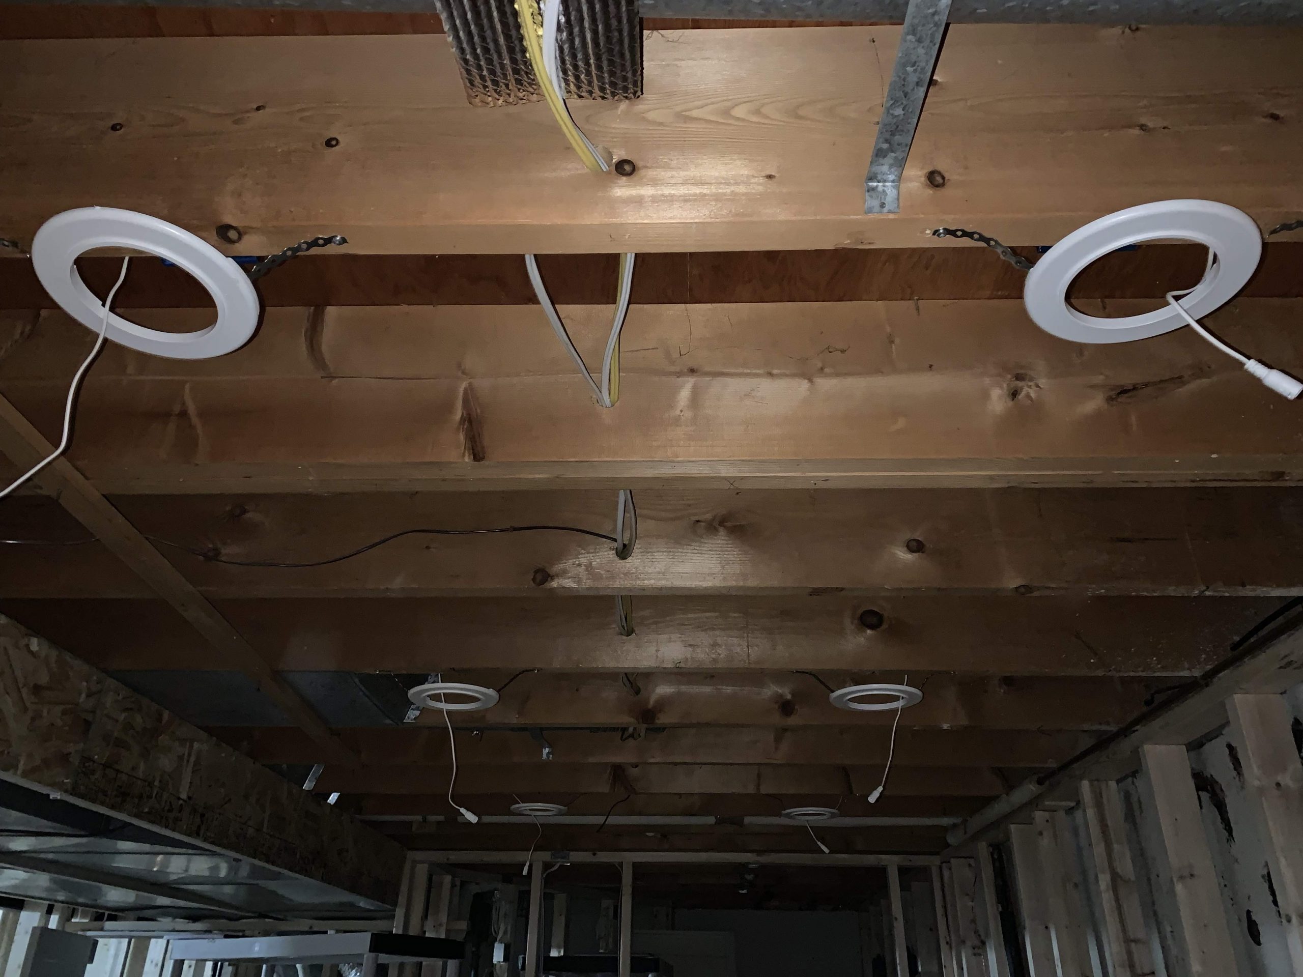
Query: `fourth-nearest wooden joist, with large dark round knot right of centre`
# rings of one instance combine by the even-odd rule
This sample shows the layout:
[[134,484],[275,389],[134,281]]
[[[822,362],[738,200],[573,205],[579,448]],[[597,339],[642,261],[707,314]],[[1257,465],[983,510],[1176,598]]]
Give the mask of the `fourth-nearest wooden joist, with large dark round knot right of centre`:
[[[523,668],[616,677],[625,671],[635,676],[667,670],[767,671],[787,672],[794,697],[808,688],[795,684],[799,677],[818,688],[813,679],[791,676],[794,668],[829,672],[833,677],[823,677],[830,684],[838,673],[864,675],[864,670],[1054,681],[1065,676],[1188,677],[1221,660],[1235,638],[1278,606],[1273,598],[1037,595],[1015,603],[839,594],[640,597],[633,603],[635,633],[616,638],[606,597],[218,602],[222,614],[258,647],[276,650],[270,663],[278,671],[473,673],[493,667],[504,671],[494,688]],[[106,671],[222,664],[160,602],[5,599],[0,608]],[[882,627],[866,629],[860,621],[865,611],[881,614]],[[521,676],[504,697],[512,702],[516,694],[528,696],[529,683],[541,677]],[[657,688],[653,676],[637,680],[646,696]],[[1033,688],[1019,683],[1011,679],[1002,688],[1010,694]],[[1123,687],[1118,701],[1124,707],[1132,702]],[[672,710],[668,701],[655,707],[663,715]],[[523,703],[521,710],[526,709]],[[1070,703],[1058,709],[1065,716],[1076,711]]]

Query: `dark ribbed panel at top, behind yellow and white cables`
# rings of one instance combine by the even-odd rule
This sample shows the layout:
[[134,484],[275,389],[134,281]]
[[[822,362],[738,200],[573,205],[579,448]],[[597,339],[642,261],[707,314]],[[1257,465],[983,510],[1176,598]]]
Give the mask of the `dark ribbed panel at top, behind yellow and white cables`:
[[[568,98],[642,94],[642,27],[636,0],[560,0],[558,53]],[[473,106],[538,102],[513,0],[435,0]]]

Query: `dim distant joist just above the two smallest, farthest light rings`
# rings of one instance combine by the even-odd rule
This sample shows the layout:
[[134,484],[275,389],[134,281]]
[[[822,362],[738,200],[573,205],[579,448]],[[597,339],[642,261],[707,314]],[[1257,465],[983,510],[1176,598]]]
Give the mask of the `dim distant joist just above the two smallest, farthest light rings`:
[[[881,766],[826,766],[801,763],[779,766],[736,761],[722,766],[700,763],[640,765],[619,767],[636,793],[773,793],[773,795],[866,795],[882,779]],[[317,782],[318,792],[347,795],[437,796],[447,791],[450,769],[431,766],[327,766]],[[457,771],[457,789],[464,795],[598,793],[616,788],[612,767],[599,763],[493,765]],[[993,797],[1010,780],[981,767],[891,769],[891,795],[926,797]],[[886,800],[886,799],[883,799]],[[504,805],[506,806],[506,805]]]

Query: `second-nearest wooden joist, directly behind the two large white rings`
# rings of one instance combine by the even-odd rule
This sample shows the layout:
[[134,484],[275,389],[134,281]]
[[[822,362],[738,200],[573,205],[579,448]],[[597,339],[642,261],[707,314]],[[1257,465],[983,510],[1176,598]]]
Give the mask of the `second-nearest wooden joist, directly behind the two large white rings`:
[[[1300,306],[1244,300],[1209,326],[1298,373]],[[610,306],[563,313],[599,360]],[[63,313],[0,317],[0,387],[57,439],[93,335]],[[674,304],[635,306],[624,349],[603,412],[536,305],[270,309],[245,349],[184,369],[112,345],[72,459],[113,495],[1303,478],[1289,405],[1186,330],[1080,348],[1031,328],[1020,301]]]

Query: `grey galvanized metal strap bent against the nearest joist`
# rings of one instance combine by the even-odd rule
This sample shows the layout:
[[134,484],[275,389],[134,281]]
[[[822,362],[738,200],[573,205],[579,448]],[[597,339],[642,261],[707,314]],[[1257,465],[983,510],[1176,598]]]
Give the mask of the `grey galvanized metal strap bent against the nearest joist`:
[[950,0],[909,0],[891,83],[878,120],[869,173],[864,178],[865,214],[900,211],[900,177],[915,129],[919,128],[949,16]]

